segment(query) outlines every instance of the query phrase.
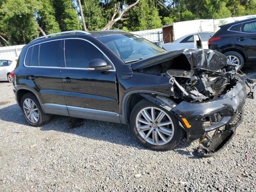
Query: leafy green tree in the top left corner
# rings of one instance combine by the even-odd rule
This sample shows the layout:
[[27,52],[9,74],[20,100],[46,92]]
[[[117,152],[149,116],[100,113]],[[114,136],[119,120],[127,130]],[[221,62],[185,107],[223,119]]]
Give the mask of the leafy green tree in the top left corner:
[[41,8],[37,0],[6,0],[0,8],[0,28],[11,44],[26,44],[38,37],[35,13]]

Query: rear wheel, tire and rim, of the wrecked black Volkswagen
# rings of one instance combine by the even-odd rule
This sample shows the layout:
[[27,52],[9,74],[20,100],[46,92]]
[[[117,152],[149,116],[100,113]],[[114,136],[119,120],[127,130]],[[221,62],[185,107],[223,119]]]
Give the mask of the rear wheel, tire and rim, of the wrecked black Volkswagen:
[[20,107],[26,121],[32,126],[41,126],[50,120],[50,114],[45,114],[36,96],[27,93],[21,98]]

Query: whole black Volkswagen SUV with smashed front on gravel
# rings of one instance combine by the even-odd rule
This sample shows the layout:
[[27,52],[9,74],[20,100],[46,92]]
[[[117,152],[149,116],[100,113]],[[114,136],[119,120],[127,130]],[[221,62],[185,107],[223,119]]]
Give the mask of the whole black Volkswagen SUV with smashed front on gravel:
[[201,156],[232,139],[255,86],[219,52],[166,52],[118,30],[37,38],[22,49],[14,73],[17,103],[32,126],[51,114],[130,124],[147,148],[170,150],[185,136],[200,142]]

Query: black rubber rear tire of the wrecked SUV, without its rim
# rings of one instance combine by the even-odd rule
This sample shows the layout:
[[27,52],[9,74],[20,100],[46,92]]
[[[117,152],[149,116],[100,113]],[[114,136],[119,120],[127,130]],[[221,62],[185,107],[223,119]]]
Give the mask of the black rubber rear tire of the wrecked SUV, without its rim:
[[[30,122],[30,120],[26,117],[25,115],[25,112],[24,112],[24,107],[23,107],[23,104],[24,104],[24,101],[26,99],[31,99],[35,104],[36,104],[36,107],[38,108],[38,114],[39,114],[39,119],[36,123],[33,123],[33,122]],[[25,94],[24,96],[22,96],[21,98],[21,101],[20,101],[20,108],[22,110],[22,114],[25,118],[25,120],[32,126],[34,127],[38,127],[38,126],[41,126],[45,123],[47,123],[50,118],[51,118],[51,115],[50,114],[46,114],[44,113],[44,111],[42,110],[41,108],[41,105],[40,103],[38,102],[38,99],[36,98],[36,96],[32,93],[27,93]]]

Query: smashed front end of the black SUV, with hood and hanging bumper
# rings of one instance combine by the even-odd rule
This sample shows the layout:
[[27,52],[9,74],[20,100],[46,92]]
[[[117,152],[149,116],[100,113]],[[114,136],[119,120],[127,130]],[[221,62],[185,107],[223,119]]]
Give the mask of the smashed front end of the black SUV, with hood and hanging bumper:
[[137,72],[170,77],[171,96],[151,100],[170,108],[189,142],[199,140],[200,156],[214,156],[228,144],[242,122],[246,97],[253,98],[256,81],[242,79],[226,61],[219,52],[185,49],[132,65]]

